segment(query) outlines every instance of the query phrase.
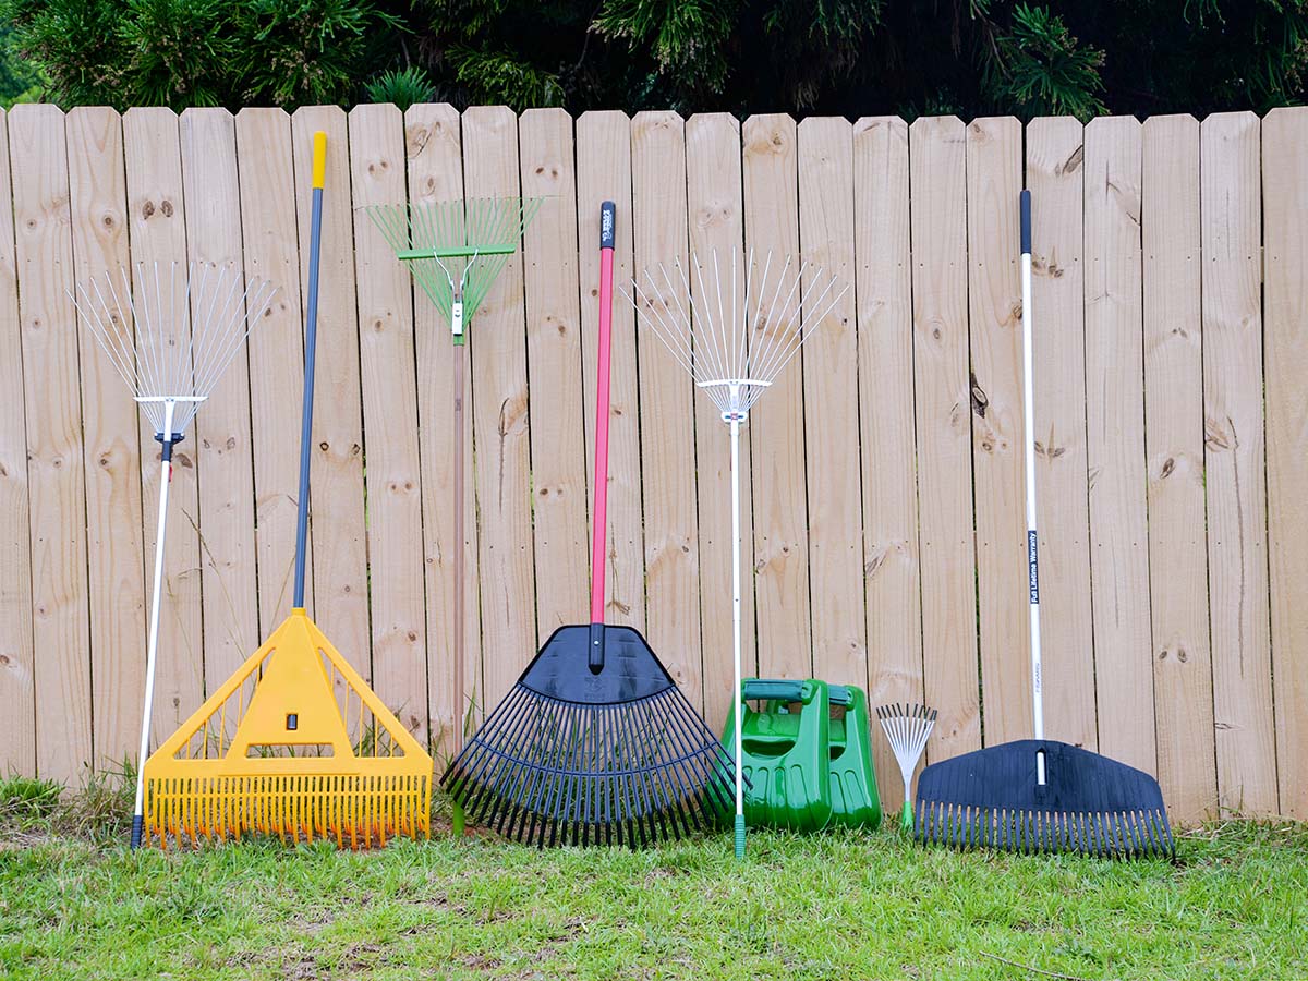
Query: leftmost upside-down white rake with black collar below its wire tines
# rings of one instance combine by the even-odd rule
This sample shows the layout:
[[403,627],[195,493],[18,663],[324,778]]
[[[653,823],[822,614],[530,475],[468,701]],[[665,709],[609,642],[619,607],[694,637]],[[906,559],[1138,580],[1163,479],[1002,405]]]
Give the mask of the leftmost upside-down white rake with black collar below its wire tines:
[[[238,272],[209,263],[200,266],[199,277],[195,264],[187,266],[184,279],[178,283],[178,266],[171,263],[165,275],[160,263],[154,263],[150,272],[146,272],[144,263],[137,264],[135,290],[129,271],[123,268],[119,276],[122,292],[114,276],[106,272],[103,279],[95,277],[78,284],[71,293],[73,305],[95,343],[154,426],[154,438],[161,446],[145,698],[141,706],[141,742],[132,810],[133,849],[140,846],[144,828],[144,776],[158,662],[173,449],[182,442],[186,426],[195,419],[200,404],[209,396],[228,365],[241,352],[252,326],[263,319],[277,296],[277,288],[267,280],[252,280],[242,285]],[[181,339],[178,335],[183,331],[186,336]]]

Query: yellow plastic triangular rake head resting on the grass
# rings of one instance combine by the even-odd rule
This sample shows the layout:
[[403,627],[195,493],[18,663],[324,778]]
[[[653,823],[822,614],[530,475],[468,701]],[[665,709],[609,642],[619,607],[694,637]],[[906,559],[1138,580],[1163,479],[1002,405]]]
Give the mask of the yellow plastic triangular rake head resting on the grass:
[[430,835],[432,757],[294,610],[145,764],[145,838]]

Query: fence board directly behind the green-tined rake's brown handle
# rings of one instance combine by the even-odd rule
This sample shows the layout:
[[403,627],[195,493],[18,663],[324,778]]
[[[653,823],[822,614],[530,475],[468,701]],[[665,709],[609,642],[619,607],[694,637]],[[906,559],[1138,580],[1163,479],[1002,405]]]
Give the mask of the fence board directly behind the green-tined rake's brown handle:
[[[404,115],[409,201],[413,205],[463,196],[459,114],[446,103],[411,106]],[[476,323],[473,323],[473,327]],[[422,536],[426,556],[428,715],[439,753],[454,748],[454,555],[463,548],[464,697],[481,704],[481,619],[477,596],[477,521],[472,473],[472,382],[464,371],[464,540],[454,540],[454,345],[450,323],[436,305],[413,289],[417,352],[419,455],[422,475]]]

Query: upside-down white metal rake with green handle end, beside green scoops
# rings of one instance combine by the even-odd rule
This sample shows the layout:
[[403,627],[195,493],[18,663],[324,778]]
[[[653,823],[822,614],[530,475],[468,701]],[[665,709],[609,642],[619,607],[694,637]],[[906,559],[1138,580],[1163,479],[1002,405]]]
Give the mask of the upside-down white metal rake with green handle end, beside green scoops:
[[[645,283],[632,284],[627,298],[649,327],[709,396],[731,429],[731,628],[735,667],[735,714],[740,713],[740,428],[749,409],[794,360],[848,286],[823,269],[787,256],[759,269],[749,254],[747,268],[732,255],[731,281],[723,283],[718,255],[712,255],[709,280],[704,264],[691,256],[695,288],[681,263],[674,277],[666,266],[645,269]],[[780,267],[780,268],[777,268]],[[744,283],[740,302],[738,288]],[[723,298],[723,288],[727,298]],[[744,770],[740,726],[735,726],[735,854],[744,858]]]

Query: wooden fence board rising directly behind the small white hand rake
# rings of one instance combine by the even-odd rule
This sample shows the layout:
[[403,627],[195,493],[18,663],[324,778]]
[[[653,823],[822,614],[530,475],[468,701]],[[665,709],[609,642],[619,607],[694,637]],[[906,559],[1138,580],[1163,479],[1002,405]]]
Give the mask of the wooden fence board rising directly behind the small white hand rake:
[[[913,430],[913,296],[908,213],[908,124],[854,124],[854,251],[858,412],[863,494],[867,697],[922,701],[922,604],[917,562]],[[888,812],[900,800],[889,744],[872,739]]]

